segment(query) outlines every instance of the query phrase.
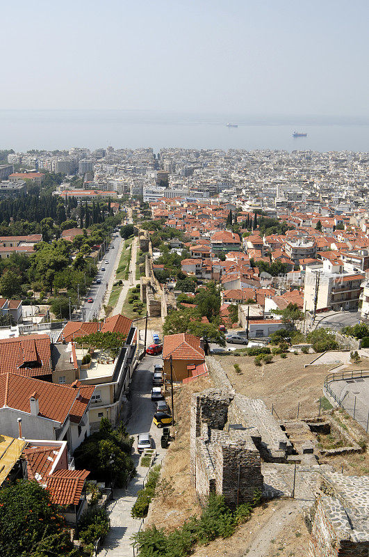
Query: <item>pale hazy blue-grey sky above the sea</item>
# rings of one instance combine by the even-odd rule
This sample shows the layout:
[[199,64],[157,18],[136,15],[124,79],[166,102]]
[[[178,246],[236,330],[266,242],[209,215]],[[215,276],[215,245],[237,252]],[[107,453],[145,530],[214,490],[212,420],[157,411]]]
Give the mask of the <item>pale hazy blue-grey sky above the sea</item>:
[[17,0],[2,109],[369,116],[368,0]]

